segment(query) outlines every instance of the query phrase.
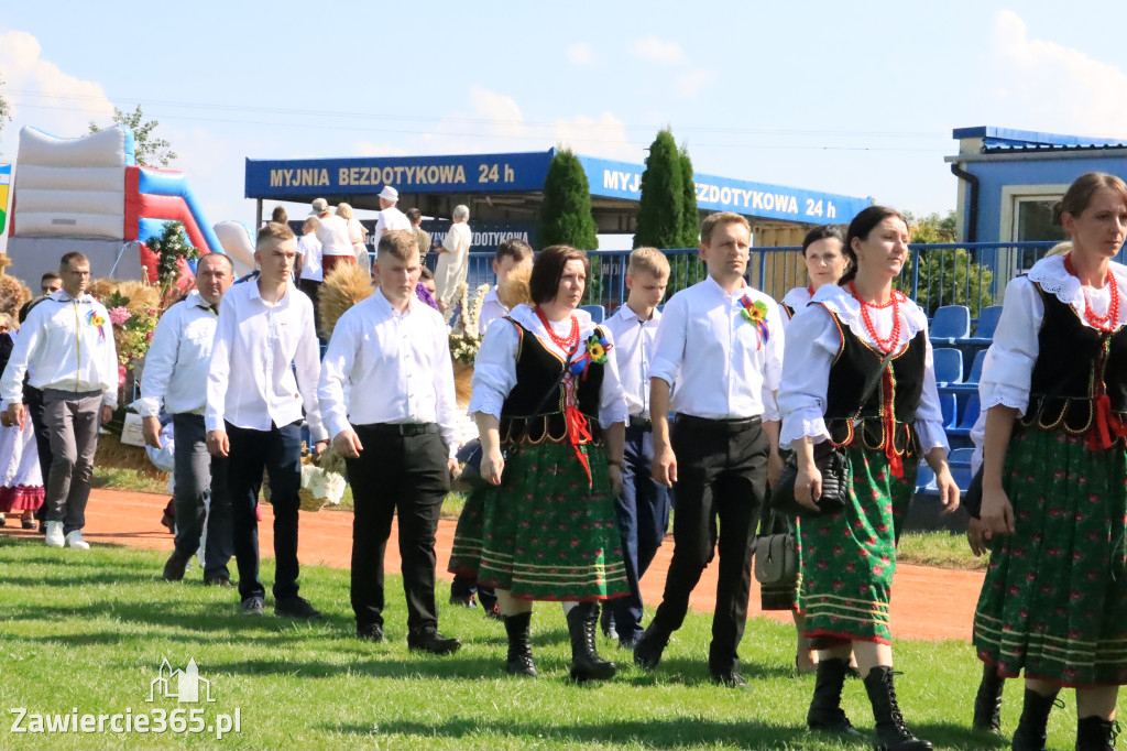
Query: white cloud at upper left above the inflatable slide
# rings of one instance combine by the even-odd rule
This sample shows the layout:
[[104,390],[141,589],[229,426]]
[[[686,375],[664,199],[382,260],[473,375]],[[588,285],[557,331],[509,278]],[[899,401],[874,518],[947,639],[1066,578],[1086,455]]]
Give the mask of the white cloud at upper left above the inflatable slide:
[[114,106],[101,85],[69,76],[39,56],[38,39],[26,32],[0,32],[0,73],[12,122],[3,130],[3,153],[16,156],[25,125],[62,138],[85,135],[91,120],[108,121]]

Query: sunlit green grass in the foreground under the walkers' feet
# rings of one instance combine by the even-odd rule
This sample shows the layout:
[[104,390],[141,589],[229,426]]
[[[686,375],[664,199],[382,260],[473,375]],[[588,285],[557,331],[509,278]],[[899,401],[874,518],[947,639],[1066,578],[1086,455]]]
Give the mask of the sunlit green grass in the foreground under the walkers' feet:
[[[742,646],[749,690],[708,679],[711,619],[692,615],[654,673],[600,638],[621,668],[595,686],[567,680],[570,659],[558,606],[539,603],[533,648],[539,680],[502,673],[504,629],[480,611],[445,604],[442,629],[459,636],[450,657],[417,656],[406,645],[398,577],[388,577],[388,640],[353,638],[348,573],[307,566],[302,593],[327,613],[309,625],[273,615],[236,612],[230,590],[204,587],[198,568],[185,582],[159,578],[165,555],[97,546],[89,553],[48,549],[0,537],[0,703],[7,717],[0,749],[844,749],[806,732],[813,677],[793,673],[793,630],[752,620]],[[269,587],[273,563],[264,567]],[[899,642],[897,689],[911,726],[938,748],[1008,748],[971,733],[970,705],[979,663],[965,643]],[[147,699],[162,659],[183,669],[190,659],[212,682],[214,704]],[[1008,691],[1003,724],[1012,730],[1020,689]],[[1072,704],[1071,697],[1068,698]],[[240,716],[240,730],[214,734],[21,734],[32,714],[154,715],[203,707],[201,724]],[[844,706],[867,733],[872,718],[860,681]],[[72,709],[73,708],[73,709]],[[25,718],[24,726],[28,719]],[[1053,748],[1071,748],[1075,712],[1057,710]],[[107,730],[109,725],[106,726]],[[854,743],[852,748],[864,744]]]

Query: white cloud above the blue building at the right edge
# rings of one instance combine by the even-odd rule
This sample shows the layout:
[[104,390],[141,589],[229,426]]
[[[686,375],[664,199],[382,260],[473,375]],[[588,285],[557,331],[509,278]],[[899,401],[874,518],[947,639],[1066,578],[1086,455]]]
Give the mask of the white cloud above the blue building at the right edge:
[[1010,10],[994,16],[988,58],[995,88],[984,103],[986,124],[1127,136],[1127,72],[1119,68],[1030,38],[1029,27]]

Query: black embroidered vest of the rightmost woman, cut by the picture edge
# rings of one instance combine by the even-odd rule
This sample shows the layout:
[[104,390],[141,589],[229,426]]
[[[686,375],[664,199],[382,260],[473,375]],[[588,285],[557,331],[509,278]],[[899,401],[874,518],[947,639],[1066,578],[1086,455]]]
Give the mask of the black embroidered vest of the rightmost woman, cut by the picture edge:
[[1036,282],[1045,317],[1037,333],[1037,361],[1022,427],[1081,434],[1092,427],[1102,390],[1111,412],[1127,419],[1127,327],[1101,332],[1084,326],[1076,309]]

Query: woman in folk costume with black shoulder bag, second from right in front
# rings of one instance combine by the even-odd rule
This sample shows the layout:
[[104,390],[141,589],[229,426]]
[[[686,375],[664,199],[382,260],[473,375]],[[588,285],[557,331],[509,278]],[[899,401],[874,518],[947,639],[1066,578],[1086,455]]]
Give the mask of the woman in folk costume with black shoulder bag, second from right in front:
[[[845,449],[849,496],[841,511],[799,523],[806,636],[820,650],[811,730],[855,734],[841,709],[852,648],[876,718],[877,749],[919,751],[931,743],[904,725],[893,686],[888,602],[896,539],[915,492],[923,453],[948,511],[959,489],[947,466],[928,318],[893,290],[907,258],[908,229],[891,209],[870,206],[850,224],[853,267],[841,286],[824,285],[787,330],[780,443],[798,460],[795,497],[816,507],[822,475],[814,444]],[[864,404],[860,404],[867,383]]]

